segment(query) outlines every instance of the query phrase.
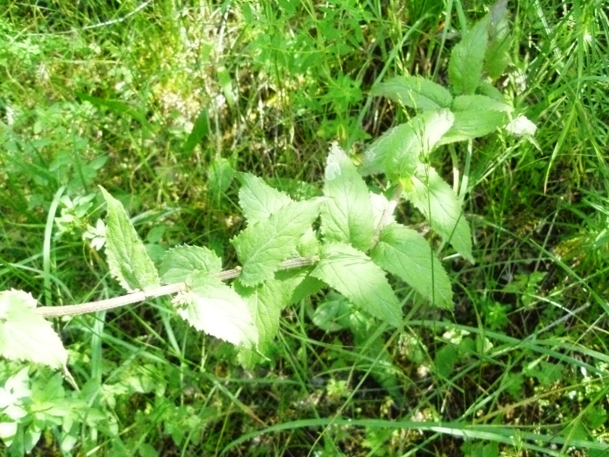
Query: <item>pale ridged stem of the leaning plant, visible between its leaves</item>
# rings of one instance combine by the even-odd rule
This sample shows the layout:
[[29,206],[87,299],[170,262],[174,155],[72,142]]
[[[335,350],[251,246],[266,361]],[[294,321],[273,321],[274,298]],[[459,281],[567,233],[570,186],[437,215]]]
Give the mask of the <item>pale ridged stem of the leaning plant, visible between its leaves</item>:
[[[319,257],[297,257],[286,261],[283,261],[279,267],[280,270],[289,270],[292,268],[299,268],[303,266],[309,266],[317,263]],[[227,281],[238,277],[241,274],[241,267],[236,267],[231,270],[220,271],[215,274],[214,277],[220,281]],[[132,292],[127,295],[120,297],[114,297],[113,299],[99,300],[97,302],[80,303],[78,305],[65,305],[65,306],[41,306],[36,308],[36,312],[43,317],[60,317],[60,316],[74,316],[76,314],[94,313],[96,311],[111,310],[118,308],[119,306],[130,305],[132,303],[143,302],[144,300],[153,299],[155,297],[162,297],[164,295],[177,294],[178,292],[184,292],[188,290],[186,283],[174,283],[167,284],[165,286],[158,286],[146,291]]]

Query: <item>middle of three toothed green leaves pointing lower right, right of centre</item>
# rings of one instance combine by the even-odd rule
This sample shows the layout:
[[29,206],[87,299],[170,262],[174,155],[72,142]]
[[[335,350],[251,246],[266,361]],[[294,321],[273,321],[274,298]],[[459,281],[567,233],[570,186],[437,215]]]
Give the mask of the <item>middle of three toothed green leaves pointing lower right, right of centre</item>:
[[440,261],[429,243],[404,225],[382,229],[370,257],[382,269],[402,278],[432,304],[452,310],[452,289]]

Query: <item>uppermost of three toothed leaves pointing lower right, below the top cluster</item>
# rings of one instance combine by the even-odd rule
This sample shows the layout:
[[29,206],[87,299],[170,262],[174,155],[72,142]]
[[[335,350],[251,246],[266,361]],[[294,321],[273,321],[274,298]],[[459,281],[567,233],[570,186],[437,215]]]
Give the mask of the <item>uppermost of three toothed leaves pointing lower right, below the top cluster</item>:
[[451,186],[434,168],[424,165],[417,169],[409,184],[404,186],[407,199],[425,214],[431,228],[466,260],[474,263],[470,226]]

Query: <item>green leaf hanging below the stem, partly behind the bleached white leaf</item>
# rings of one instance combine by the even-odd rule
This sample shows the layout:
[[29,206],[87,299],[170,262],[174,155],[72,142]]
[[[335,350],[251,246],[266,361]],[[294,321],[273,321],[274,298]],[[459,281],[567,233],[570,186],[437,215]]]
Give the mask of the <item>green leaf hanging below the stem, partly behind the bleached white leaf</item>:
[[[266,354],[272,345],[279,330],[281,310],[289,304],[294,286],[293,282],[275,279],[256,287],[246,287],[239,280],[234,282],[234,289],[246,300],[258,330],[259,353]],[[247,367],[253,366],[261,359],[258,352],[251,347],[243,348],[239,352],[240,363]]]

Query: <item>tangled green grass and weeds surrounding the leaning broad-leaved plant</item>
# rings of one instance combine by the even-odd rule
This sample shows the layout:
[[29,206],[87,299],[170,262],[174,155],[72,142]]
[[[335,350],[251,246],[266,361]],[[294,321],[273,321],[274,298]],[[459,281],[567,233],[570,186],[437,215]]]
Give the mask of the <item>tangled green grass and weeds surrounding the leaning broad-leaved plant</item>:
[[[488,7],[5,0],[0,289],[43,305],[122,293],[96,250],[97,184],[134,216],[153,260],[188,243],[234,266],[228,240],[243,221],[233,172],[319,193],[329,141],[357,162],[412,115],[369,97],[373,84],[417,74],[445,85],[451,46]],[[358,330],[316,311],[340,300],[320,294],[284,313],[271,360],[255,370],[167,299],[63,320],[82,389],[30,370],[32,399],[44,401],[23,423],[40,440],[28,445],[26,434],[0,452],[607,455],[609,5],[510,0],[508,10],[499,88],[538,130],[474,142],[466,218],[476,264],[444,253],[454,313],[398,283],[406,332]],[[448,152],[434,160],[451,180]],[[398,213],[428,233],[414,208]],[[0,384],[20,367],[1,361]],[[403,425],[435,420],[452,425]],[[459,424],[477,434],[464,441]]]

